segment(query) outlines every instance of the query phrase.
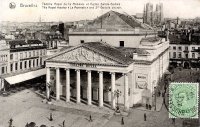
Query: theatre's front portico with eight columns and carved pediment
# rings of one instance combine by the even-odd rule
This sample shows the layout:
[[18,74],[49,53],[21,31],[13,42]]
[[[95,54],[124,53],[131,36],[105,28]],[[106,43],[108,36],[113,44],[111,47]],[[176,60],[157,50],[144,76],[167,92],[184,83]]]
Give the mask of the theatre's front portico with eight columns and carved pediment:
[[[105,48],[110,47],[105,45]],[[116,49],[111,48],[111,50]],[[56,77],[55,92],[53,91],[56,93],[56,100],[60,100],[60,95],[64,95],[66,102],[69,102],[72,97],[71,99],[76,99],[76,103],[80,103],[83,99],[82,101],[86,101],[88,105],[92,105],[93,102],[99,107],[103,107],[104,104],[109,105],[112,109],[116,109],[116,100],[118,100],[118,104],[123,104],[128,109],[127,73],[132,71],[132,60],[124,59],[124,56],[119,59],[118,55],[103,55],[100,52],[104,51],[98,53],[89,47],[78,47],[46,60],[47,67],[56,68],[56,72],[52,69],[51,73],[47,68],[47,82],[50,80],[50,74]],[[122,95],[116,96],[116,89],[119,89]]]

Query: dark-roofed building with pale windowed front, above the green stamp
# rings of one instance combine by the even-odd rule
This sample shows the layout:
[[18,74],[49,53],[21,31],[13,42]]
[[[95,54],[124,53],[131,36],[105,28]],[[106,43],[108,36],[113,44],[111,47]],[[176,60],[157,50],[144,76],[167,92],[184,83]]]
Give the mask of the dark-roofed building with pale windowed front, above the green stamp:
[[200,68],[200,34],[192,30],[170,35],[170,64],[174,67]]

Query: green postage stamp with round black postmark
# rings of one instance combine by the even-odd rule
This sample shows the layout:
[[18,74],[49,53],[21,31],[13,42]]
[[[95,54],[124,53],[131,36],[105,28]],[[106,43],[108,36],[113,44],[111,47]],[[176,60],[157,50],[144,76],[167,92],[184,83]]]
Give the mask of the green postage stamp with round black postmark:
[[198,118],[198,83],[169,85],[169,118]]

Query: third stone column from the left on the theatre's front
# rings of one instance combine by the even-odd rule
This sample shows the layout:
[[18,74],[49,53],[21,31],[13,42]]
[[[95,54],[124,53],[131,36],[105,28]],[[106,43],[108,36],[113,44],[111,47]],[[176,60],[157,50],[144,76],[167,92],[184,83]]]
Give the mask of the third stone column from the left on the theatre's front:
[[70,70],[66,69],[66,102],[70,102]]

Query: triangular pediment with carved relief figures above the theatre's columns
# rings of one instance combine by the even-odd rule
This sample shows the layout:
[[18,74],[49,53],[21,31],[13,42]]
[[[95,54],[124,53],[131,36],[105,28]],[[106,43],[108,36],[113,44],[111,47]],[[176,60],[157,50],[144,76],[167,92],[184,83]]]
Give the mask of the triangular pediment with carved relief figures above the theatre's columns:
[[60,61],[68,63],[91,63],[91,64],[120,64],[119,62],[104,56],[103,54],[80,46],[57,54],[48,59],[49,61]]

